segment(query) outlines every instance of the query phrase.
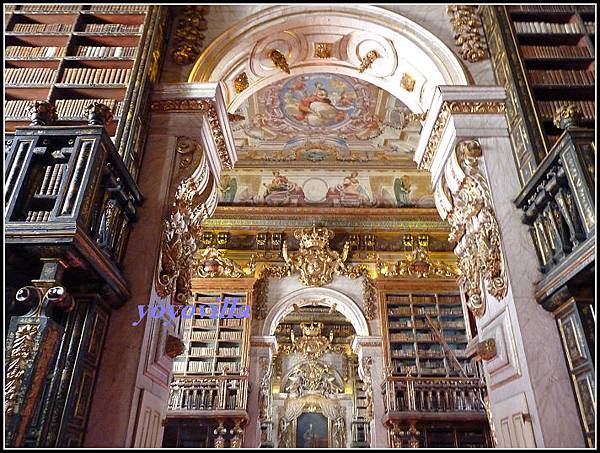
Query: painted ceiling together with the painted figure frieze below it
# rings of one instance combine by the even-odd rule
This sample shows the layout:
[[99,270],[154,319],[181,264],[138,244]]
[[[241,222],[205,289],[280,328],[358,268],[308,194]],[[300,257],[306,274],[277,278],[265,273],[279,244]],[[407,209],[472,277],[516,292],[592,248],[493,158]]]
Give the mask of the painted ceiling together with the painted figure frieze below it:
[[413,162],[421,123],[367,82],[298,75],[252,95],[236,112],[236,168],[222,205],[433,207]]

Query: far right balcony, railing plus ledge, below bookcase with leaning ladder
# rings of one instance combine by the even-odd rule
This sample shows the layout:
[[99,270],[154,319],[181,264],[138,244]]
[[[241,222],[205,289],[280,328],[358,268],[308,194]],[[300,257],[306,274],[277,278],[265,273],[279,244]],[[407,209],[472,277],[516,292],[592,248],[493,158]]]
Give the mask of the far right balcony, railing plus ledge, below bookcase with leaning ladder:
[[476,378],[388,377],[382,392],[387,413],[384,423],[486,419],[485,384]]

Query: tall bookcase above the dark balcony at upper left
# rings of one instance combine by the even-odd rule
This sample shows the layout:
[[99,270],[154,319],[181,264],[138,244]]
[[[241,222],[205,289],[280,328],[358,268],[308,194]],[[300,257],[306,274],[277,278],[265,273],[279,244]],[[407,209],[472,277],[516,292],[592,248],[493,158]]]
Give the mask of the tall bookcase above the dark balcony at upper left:
[[5,9],[5,131],[29,125],[27,107],[34,100],[56,107],[56,126],[86,125],[86,107],[101,102],[113,112],[106,129],[137,179],[144,142],[138,129],[148,110],[144,92],[150,66],[160,64],[156,52],[164,54],[166,16],[165,8],[150,5]]

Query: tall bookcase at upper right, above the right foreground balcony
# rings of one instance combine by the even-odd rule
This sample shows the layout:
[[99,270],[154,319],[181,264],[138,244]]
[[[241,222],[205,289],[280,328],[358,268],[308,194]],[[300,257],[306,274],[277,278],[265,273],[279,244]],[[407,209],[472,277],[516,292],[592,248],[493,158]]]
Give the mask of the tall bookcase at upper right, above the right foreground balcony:
[[[595,12],[593,5],[501,6],[525,80],[525,99],[532,104],[533,129],[548,154],[562,130],[554,113],[575,103],[582,127],[595,125]],[[507,49],[508,51],[508,49]]]

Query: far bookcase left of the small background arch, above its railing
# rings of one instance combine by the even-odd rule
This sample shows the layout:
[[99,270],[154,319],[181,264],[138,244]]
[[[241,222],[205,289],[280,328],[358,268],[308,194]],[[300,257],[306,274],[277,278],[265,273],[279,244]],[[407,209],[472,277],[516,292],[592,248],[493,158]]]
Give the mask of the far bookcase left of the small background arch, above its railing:
[[[224,284],[222,288],[210,288],[204,284],[206,281],[194,280],[194,305],[215,306],[217,300],[220,300],[218,305],[222,309],[224,302],[231,306],[233,299],[237,300],[238,308],[245,304],[251,305],[249,291],[244,286],[239,286],[240,281],[245,282],[245,280],[247,279],[231,279],[231,284],[229,286]],[[250,317],[212,318],[209,317],[208,310],[205,311],[204,316],[195,310],[193,317],[182,320],[185,352],[174,360],[175,377],[246,374],[250,322]]]

